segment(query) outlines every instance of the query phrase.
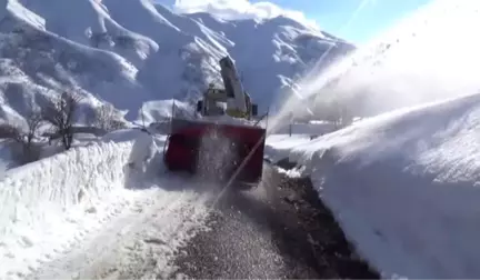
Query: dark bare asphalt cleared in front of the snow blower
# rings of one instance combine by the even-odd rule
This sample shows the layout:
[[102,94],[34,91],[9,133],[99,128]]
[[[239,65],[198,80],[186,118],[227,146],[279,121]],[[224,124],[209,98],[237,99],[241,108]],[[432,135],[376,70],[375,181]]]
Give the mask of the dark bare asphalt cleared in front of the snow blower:
[[266,164],[262,183],[228,192],[176,264],[189,279],[380,279],[359,260],[309,179]]

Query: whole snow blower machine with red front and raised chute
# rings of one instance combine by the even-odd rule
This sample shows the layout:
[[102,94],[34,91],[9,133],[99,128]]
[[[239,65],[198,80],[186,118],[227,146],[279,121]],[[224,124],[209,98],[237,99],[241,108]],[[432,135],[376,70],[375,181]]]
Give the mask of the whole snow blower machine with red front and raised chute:
[[222,58],[220,68],[224,88],[210,84],[197,118],[172,117],[164,163],[170,171],[249,189],[262,177],[266,129],[232,60]]

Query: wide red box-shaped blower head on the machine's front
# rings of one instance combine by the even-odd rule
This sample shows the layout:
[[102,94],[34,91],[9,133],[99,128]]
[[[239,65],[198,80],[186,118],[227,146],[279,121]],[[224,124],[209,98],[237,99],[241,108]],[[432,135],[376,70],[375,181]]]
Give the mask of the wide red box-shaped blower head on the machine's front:
[[254,126],[173,119],[166,143],[170,171],[188,171],[251,188],[262,177],[266,129]]

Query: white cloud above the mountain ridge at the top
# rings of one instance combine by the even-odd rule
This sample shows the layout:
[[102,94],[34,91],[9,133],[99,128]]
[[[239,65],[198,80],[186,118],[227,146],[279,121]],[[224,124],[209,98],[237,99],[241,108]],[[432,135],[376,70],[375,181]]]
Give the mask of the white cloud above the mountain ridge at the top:
[[314,20],[303,12],[283,9],[271,2],[252,3],[249,0],[176,0],[173,8],[183,13],[209,12],[219,18],[233,19],[271,19],[284,16],[308,27],[318,29]]

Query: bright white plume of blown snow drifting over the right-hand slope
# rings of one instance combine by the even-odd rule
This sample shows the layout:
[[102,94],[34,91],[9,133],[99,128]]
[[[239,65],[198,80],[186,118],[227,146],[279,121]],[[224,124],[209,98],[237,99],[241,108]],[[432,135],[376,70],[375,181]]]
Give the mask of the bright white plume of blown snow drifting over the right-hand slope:
[[422,7],[321,76],[309,74],[280,114],[348,119],[477,93],[480,40],[464,30],[480,24],[479,14],[478,1]]

